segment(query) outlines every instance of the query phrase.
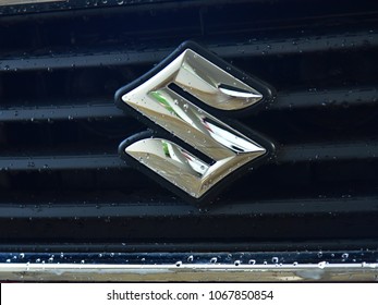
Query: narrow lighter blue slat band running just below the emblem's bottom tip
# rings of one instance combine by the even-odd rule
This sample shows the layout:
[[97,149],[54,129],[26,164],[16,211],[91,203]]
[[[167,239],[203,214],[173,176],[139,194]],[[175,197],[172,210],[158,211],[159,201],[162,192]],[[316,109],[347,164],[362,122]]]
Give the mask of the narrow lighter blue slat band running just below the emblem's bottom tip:
[[16,210],[22,213],[19,217],[45,218],[45,217],[61,217],[61,218],[96,218],[95,208],[102,209],[102,212],[109,217],[144,217],[150,218],[170,218],[170,217],[231,217],[243,213],[245,217],[263,217],[263,216],[291,216],[293,213],[302,215],[309,213],[312,216],[321,213],[349,213],[349,212],[374,212],[378,213],[376,204],[377,197],[343,197],[343,198],[302,198],[302,199],[273,199],[273,200],[253,200],[253,202],[234,202],[232,205],[219,204],[216,207],[198,209],[193,205],[182,202],[168,199],[163,203],[159,202],[102,202],[82,204],[57,203],[56,207],[41,203],[35,207],[35,204],[25,202],[22,207],[9,203],[0,207],[0,218],[11,218],[16,215]]

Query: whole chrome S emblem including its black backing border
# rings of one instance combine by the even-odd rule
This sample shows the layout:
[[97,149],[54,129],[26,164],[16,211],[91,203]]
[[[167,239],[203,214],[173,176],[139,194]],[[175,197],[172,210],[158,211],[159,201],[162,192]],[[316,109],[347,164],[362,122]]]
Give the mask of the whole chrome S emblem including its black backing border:
[[273,155],[270,141],[234,119],[273,96],[266,83],[186,41],[117,91],[117,106],[150,129],[123,141],[120,156],[185,200],[209,203]]

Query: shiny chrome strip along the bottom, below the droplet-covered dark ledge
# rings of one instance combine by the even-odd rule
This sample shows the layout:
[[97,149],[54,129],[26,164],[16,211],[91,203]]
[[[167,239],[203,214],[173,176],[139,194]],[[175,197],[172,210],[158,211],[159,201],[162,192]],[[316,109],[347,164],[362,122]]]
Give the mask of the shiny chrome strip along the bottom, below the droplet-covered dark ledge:
[[378,281],[377,264],[0,264],[2,281]]

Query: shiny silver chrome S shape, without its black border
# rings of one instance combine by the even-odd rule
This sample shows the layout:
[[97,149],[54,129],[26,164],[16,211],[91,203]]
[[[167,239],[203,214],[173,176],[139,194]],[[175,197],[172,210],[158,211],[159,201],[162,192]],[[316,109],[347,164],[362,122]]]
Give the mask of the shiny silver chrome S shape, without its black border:
[[142,139],[125,148],[126,154],[160,176],[199,198],[224,176],[265,155],[266,149],[179,95],[170,87],[172,83],[221,110],[243,109],[263,96],[187,49],[122,97],[129,106],[212,160],[204,161],[163,138]]

